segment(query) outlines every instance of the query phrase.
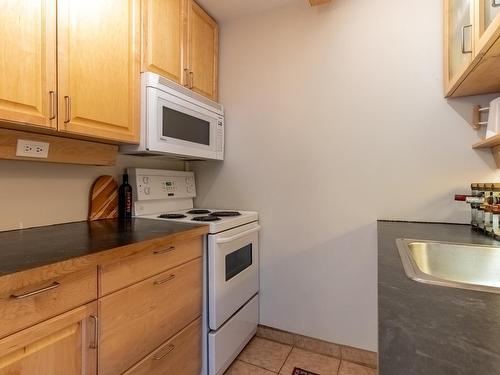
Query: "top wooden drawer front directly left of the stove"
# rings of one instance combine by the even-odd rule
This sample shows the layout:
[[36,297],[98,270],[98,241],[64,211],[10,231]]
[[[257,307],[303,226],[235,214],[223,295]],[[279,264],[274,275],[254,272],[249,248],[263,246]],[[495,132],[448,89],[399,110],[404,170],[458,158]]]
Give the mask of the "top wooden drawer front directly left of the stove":
[[201,257],[203,238],[165,242],[100,267],[100,296],[107,295],[160,272]]

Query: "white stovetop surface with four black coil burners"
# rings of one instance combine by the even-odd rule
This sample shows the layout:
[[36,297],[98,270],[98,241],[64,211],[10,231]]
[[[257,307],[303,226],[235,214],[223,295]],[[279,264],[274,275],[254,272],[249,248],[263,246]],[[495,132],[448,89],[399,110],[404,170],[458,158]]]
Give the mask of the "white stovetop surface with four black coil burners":
[[254,211],[217,210],[192,208],[172,212],[140,215],[146,219],[168,220],[180,223],[209,225],[210,233],[219,233],[240,225],[248,224],[259,219]]

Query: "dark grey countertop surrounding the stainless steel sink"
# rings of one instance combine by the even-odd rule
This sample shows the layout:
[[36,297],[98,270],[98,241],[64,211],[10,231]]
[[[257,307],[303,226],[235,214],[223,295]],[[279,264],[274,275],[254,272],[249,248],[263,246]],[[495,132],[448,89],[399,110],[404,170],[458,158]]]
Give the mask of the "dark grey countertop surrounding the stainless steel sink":
[[468,225],[378,223],[380,375],[500,374],[500,294],[408,279],[397,238],[500,245]]

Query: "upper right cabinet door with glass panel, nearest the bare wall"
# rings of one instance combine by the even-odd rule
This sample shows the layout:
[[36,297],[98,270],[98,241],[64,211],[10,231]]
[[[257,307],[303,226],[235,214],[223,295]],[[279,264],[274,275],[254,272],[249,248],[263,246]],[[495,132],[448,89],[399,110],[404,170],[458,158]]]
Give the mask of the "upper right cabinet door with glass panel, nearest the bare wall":
[[474,56],[474,0],[445,0],[445,91],[460,80]]

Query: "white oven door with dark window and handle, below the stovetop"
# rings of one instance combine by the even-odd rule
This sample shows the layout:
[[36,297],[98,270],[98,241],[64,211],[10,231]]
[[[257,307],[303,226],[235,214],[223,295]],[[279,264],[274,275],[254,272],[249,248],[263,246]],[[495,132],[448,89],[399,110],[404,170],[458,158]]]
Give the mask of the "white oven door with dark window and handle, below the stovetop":
[[208,321],[212,330],[259,291],[259,229],[255,222],[209,235]]

